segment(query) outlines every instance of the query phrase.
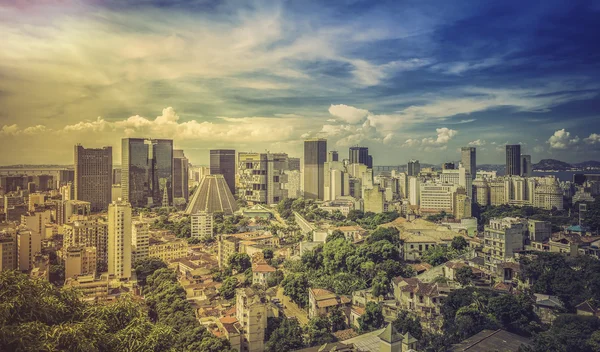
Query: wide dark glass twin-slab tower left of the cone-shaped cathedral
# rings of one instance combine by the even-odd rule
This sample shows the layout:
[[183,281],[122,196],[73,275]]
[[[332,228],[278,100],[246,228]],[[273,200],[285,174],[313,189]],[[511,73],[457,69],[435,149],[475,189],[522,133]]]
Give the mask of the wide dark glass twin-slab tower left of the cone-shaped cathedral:
[[121,189],[132,207],[161,206],[173,201],[173,140],[123,138]]

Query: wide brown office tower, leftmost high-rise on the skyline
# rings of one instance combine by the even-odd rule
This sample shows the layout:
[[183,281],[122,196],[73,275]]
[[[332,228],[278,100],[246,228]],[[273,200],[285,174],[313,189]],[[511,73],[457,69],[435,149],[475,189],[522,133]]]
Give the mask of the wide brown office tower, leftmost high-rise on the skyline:
[[90,202],[92,211],[108,208],[112,191],[112,147],[75,146],[75,199]]

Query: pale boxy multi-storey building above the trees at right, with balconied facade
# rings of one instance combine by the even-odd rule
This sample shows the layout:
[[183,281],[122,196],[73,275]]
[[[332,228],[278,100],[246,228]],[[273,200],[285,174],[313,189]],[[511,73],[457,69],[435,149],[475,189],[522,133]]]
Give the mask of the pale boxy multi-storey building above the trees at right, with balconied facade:
[[523,250],[527,222],[518,218],[491,219],[484,227],[483,253],[485,265],[495,271],[497,264]]

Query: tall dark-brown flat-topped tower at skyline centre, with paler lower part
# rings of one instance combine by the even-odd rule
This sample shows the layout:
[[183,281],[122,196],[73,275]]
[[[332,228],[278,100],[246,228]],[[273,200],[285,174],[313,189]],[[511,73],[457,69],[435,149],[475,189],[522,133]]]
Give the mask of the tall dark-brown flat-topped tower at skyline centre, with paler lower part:
[[323,199],[327,140],[321,138],[304,141],[304,198]]

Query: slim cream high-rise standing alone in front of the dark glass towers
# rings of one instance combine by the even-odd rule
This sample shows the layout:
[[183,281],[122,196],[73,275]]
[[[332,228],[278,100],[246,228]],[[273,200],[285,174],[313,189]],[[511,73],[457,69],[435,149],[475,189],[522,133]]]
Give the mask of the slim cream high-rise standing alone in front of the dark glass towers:
[[117,279],[131,278],[131,205],[108,206],[108,273]]

